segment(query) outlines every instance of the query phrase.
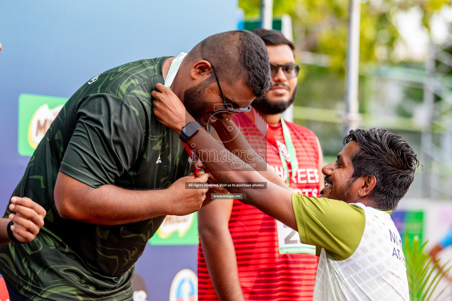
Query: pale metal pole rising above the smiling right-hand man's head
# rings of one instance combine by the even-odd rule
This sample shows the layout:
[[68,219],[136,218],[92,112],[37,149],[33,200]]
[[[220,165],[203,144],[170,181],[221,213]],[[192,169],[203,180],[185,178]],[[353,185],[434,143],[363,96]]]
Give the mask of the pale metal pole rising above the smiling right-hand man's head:
[[358,114],[358,76],[359,76],[359,26],[361,1],[350,0],[348,4],[347,66],[345,70],[345,116],[346,133],[354,130],[360,122]]

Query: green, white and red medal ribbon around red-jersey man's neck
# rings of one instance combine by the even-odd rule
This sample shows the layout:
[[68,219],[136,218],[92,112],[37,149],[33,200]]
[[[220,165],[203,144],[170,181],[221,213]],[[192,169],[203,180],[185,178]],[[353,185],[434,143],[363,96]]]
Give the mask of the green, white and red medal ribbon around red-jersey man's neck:
[[[245,113],[245,115],[251,120],[253,121],[254,125],[257,124],[255,118],[262,118],[259,113],[257,111],[254,110],[254,108],[251,109],[250,112]],[[265,122],[264,120],[262,120],[263,122]],[[277,150],[278,150],[278,154],[279,154],[279,158],[281,159],[281,164],[282,167],[284,168],[284,175],[286,176],[286,184],[287,186],[290,187],[290,176],[289,176],[289,169],[287,167],[287,161],[290,163],[291,167],[292,167],[292,175],[297,173],[298,170],[298,160],[297,160],[297,154],[295,153],[295,147],[293,146],[292,143],[292,137],[290,136],[290,131],[289,128],[287,127],[286,122],[284,121],[284,119],[281,116],[281,126],[282,126],[282,134],[284,135],[284,143],[285,146],[287,148],[287,153],[289,153],[289,160],[286,161],[286,157],[284,156],[284,153],[282,152],[282,148],[278,145],[276,139],[275,139],[275,134],[272,130],[272,128],[270,126],[268,126],[267,124],[265,124],[265,126],[267,127],[267,131],[266,131],[266,135],[265,135],[265,131],[263,133],[263,135],[265,135],[267,137],[267,141],[268,143],[270,143],[271,145],[273,145]],[[281,143],[281,141],[279,141]]]

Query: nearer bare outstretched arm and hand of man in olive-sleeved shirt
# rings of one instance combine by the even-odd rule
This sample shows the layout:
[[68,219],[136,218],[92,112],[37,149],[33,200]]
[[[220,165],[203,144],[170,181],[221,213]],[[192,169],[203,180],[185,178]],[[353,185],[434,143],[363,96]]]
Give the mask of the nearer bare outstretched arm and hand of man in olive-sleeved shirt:
[[[173,129],[176,133],[180,131],[186,123],[194,121],[180,102],[179,98],[162,84],[156,84],[157,90],[152,91],[154,114],[165,126]],[[160,92],[162,91],[162,92]],[[180,120],[174,122],[174,120]],[[188,139],[188,144],[199,157],[205,149],[217,154],[228,154],[221,157],[221,160],[205,161],[204,166],[219,182],[267,182],[267,189],[243,189],[231,188],[231,193],[242,193],[243,202],[250,204],[269,216],[276,218],[288,227],[297,230],[297,222],[292,208],[292,191],[282,188],[259,175],[253,168],[242,164],[240,169],[234,168],[234,162],[242,162],[240,158],[230,153],[223,146],[217,143],[204,129],[199,129],[198,133]],[[271,172],[271,171],[269,171]]]

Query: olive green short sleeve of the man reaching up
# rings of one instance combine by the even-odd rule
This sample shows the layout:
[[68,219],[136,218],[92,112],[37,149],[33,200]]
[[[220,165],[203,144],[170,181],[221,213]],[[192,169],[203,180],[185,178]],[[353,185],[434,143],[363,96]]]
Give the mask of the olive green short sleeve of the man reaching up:
[[344,201],[292,194],[292,206],[302,243],[344,260],[358,248],[366,226],[364,210]]

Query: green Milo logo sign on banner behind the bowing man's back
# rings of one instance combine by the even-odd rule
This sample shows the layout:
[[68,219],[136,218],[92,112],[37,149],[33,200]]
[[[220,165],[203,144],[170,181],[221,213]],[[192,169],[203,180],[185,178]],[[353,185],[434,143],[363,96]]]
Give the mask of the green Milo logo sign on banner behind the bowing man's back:
[[69,98],[34,94],[19,95],[17,150],[31,156]]

